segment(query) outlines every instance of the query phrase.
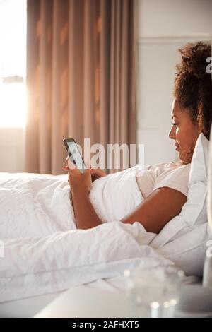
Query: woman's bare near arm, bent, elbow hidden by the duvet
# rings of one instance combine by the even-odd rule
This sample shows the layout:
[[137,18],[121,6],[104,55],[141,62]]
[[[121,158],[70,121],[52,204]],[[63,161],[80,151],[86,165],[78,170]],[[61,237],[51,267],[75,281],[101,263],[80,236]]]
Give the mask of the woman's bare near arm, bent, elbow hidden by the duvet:
[[[88,197],[91,186],[90,170],[85,170],[83,174],[77,169],[70,170],[69,183],[77,227],[87,229],[100,225],[102,221]],[[155,189],[121,221],[131,224],[139,221],[147,232],[158,234],[168,221],[180,213],[186,201],[187,197],[175,189],[168,187]]]

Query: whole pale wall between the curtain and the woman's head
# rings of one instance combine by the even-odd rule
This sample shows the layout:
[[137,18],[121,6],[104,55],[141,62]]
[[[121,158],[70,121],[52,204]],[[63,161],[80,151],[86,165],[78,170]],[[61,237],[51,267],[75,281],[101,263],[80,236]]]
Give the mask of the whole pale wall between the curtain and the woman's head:
[[145,164],[176,158],[168,138],[177,49],[211,39],[211,0],[138,0],[137,142]]

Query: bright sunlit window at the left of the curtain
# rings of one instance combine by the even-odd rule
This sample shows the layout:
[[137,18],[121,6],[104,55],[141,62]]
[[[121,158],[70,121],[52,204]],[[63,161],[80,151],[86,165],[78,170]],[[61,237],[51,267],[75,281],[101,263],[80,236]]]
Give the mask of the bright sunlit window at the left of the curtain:
[[0,0],[0,126],[23,127],[26,115],[26,0]]

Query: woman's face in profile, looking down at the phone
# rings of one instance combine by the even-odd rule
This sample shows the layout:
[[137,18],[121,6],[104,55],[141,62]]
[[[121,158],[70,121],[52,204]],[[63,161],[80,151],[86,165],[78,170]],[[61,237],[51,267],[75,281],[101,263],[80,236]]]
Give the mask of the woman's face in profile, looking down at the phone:
[[200,131],[199,126],[192,122],[189,112],[179,107],[176,100],[172,104],[172,129],[169,137],[175,140],[175,150],[179,154],[179,159],[188,164],[192,160],[196,139]]

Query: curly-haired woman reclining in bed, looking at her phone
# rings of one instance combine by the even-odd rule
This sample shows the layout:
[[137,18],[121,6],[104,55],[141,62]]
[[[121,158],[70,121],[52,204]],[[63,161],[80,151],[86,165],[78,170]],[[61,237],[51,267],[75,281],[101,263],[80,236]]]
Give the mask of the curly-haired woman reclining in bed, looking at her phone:
[[[212,83],[211,75],[206,72],[206,59],[211,56],[211,45],[198,42],[188,44],[179,52],[182,54],[181,64],[177,66],[175,79],[174,102],[172,105],[172,128],[169,137],[175,141],[175,149],[179,155],[178,164],[160,164],[148,167],[146,175],[137,178],[139,189],[144,200],[134,211],[122,218],[123,223],[139,221],[146,231],[158,233],[168,221],[178,215],[187,201],[184,185],[188,182],[189,165],[192,160],[196,139],[202,132],[209,139],[212,117]],[[179,167],[176,186],[166,179],[174,178],[176,167]],[[67,170],[67,167],[64,167]],[[148,194],[142,192],[154,172],[157,181],[163,181]],[[69,170],[69,184],[76,217],[76,226],[81,229],[95,227],[102,223],[89,200],[91,175],[105,175],[101,170],[86,170],[83,174],[78,169]],[[143,183],[143,185],[142,185]],[[161,184],[162,183],[162,184]],[[153,186],[151,187],[153,188]],[[154,187],[155,188],[155,187]],[[165,202],[165,203],[164,203]]]

